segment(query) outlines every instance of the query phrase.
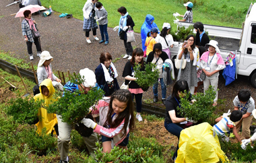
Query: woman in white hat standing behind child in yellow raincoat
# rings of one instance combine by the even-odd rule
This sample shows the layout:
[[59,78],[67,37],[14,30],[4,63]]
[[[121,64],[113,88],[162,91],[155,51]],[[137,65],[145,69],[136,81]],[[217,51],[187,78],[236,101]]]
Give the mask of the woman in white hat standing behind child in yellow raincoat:
[[56,81],[61,83],[61,79],[56,77],[53,74],[53,69],[51,62],[53,61],[53,57],[51,57],[49,51],[43,51],[40,57],[40,61],[37,65],[37,79],[38,79],[38,86],[44,81],[44,79],[51,79],[51,81]]

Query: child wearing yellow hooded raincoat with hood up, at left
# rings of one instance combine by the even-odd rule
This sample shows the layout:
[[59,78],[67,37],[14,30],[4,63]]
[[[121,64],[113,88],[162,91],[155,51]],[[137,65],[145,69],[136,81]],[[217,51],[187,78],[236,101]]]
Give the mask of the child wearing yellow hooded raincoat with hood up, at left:
[[41,133],[42,129],[46,127],[47,134],[56,134],[57,130],[55,130],[55,127],[57,127],[58,124],[56,114],[48,113],[46,108],[44,108],[44,106],[47,107],[56,100],[53,97],[55,89],[53,88],[51,79],[44,79],[42,84],[40,84],[39,90],[40,94],[36,94],[36,96],[34,96],[34,100],[44,100],[44,104],[42,104],[42,107],[38,110],[39,122],[36,123],[37,132]]

